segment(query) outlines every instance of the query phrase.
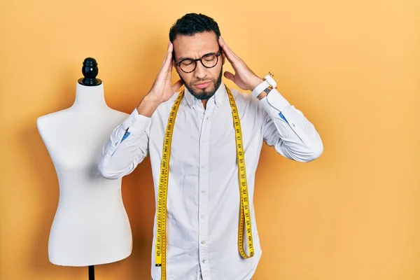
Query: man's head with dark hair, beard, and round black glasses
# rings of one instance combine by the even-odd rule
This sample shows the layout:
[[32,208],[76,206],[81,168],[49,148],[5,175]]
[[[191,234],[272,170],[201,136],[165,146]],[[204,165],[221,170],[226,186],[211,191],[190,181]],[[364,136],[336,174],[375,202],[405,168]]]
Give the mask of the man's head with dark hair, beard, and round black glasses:
[[212,97],[222,82],[225,57],[219,36],[217,22],[196,13],[184,15],[169,31],[176,71],[188,91],[199,99]]

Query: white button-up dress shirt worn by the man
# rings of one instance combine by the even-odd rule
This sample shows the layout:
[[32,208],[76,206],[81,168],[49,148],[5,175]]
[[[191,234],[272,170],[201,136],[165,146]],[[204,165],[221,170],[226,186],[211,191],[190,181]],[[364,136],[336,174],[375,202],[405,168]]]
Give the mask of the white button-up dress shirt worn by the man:
[[[151,118],[132,111],[104,145],[99,172],[108,179],[130,174],[150,155],[158,197],[160,160],[167,120],[179,93],[160,104]],[[261,257],[253,194],[262,142],[277,153],[309,162],[323,152],[321,138],[301,111],[277,90],[259,100],[232,90],[243,136],[255,255],[238,250],[239,181],[232,109],[222,83],[204,109],[188,90],[179,106],[172,137],[167,196],[167,279],[249,280]],[[157,200],[155,199],[155,205]],[[151,250],[155,266],[156,213]],[[246,234],[244,235],[246,240]],[[245,252],[248,247],[245,242]]]

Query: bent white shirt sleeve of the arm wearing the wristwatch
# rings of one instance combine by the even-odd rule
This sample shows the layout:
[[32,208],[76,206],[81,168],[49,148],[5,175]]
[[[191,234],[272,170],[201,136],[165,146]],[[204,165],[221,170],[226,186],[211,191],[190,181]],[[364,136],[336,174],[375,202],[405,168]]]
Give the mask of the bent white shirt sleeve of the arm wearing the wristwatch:
[[323,153],[323,143],[314,125],[273,89],[260,100],[265,109],[262,137],[277,153],[300,162],[310,162]]

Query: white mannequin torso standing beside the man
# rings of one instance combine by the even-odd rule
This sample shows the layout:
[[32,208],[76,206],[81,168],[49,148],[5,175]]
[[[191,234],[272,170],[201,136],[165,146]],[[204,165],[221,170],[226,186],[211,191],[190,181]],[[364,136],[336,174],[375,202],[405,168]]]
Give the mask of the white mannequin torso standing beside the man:
[[59,181],[48,241],[48,257],[55,265],[100,265],[132,252],[121,179],[104,179],[97,171],[104,143],[128,115],[106,105],[104,85],[94,80],[101,84],[77,83],[69,109],[36,120]]

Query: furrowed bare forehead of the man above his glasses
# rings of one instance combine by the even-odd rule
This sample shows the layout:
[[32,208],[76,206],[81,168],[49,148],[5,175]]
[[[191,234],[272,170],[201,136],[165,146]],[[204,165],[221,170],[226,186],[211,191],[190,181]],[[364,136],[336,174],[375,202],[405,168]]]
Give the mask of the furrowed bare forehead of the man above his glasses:
[[219,44],[216,33],[202,32],[193,36],[177,35],[174,40],[175,59],[199,58],[209,52],[217,52]]

